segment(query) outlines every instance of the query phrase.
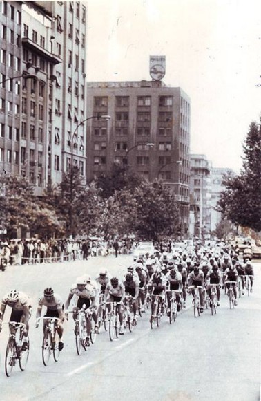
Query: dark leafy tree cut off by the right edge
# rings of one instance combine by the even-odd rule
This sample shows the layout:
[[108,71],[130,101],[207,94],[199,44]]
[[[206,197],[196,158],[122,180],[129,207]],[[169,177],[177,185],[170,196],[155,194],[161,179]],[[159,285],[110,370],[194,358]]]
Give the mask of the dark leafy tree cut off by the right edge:
[[261,230],[261,130],[251,123],[240,174],[224,177],[218,210],[235,225]]

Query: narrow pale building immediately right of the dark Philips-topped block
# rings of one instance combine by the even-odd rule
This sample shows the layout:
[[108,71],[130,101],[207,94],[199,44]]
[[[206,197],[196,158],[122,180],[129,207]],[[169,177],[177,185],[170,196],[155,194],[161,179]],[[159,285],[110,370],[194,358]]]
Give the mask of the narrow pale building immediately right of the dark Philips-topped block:
[[211,231],[211,162],[205,155],[191,154],[191,209],[193,227],[191,236],[206,236]]

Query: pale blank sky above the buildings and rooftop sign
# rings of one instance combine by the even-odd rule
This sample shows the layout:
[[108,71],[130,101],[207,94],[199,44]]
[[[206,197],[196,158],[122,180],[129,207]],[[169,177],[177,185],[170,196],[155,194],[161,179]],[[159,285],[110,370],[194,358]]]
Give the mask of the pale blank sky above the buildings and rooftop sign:
[[151,80],[150,55],[191,98],[191,153],[239,171],[261,113],[261,1],[88,1],[88,81]]

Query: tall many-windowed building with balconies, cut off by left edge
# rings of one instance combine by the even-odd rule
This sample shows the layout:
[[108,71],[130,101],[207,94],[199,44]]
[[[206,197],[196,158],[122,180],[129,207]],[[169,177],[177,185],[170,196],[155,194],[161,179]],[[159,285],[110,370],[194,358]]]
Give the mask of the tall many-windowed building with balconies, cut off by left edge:
[[41,195],[71,159],[86,175],[86,6],[1,1],[0,25],[0,168]]

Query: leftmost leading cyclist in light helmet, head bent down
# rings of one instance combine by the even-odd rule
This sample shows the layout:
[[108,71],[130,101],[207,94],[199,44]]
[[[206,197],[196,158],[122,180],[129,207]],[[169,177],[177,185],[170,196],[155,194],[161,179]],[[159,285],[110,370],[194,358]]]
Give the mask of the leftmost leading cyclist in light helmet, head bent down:
[[[29,319],[32,311],[30,298],[24,292],[17,290],[10,290],[6,295],[4,295],[0,308],[0,331],[6,306],[12,308],[10,321],[17,321],[17,323],[21,322],[26,325],[25,328],[23,328],[25,339],[22,346],[22,351],[26,351],[28,349]],[[15,333],[12,326],[9,326],[9,330],[10,333]]]

